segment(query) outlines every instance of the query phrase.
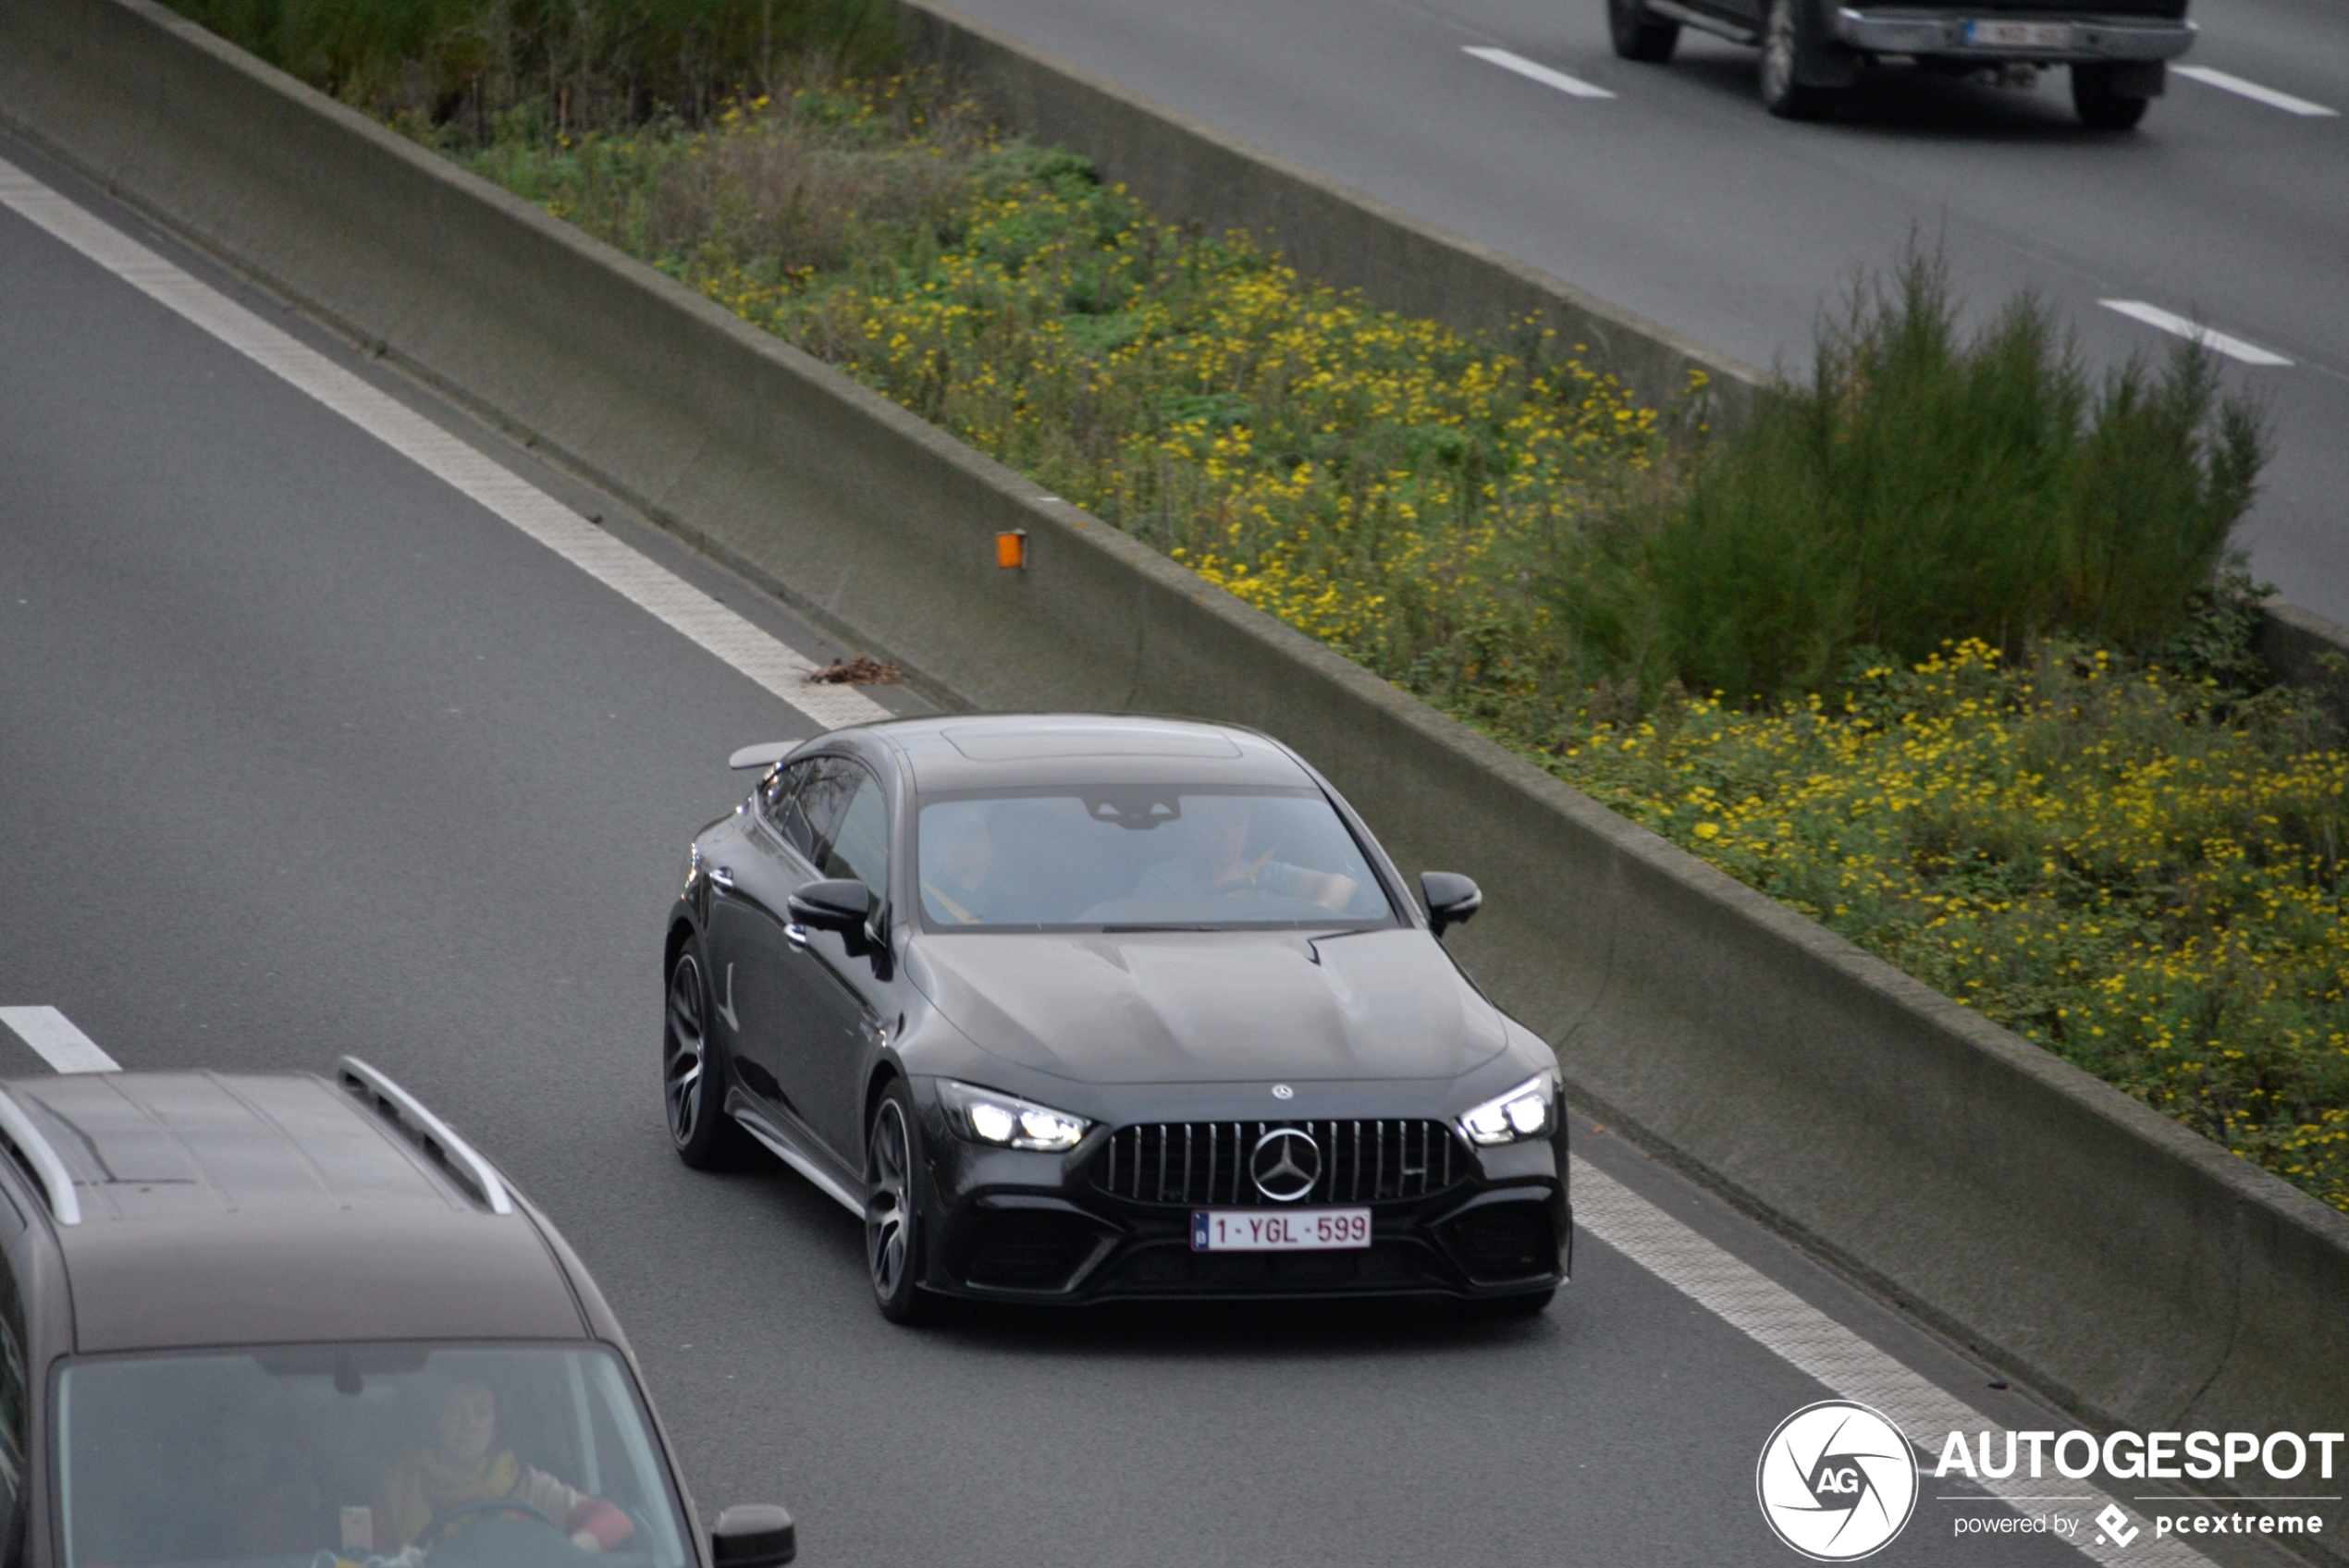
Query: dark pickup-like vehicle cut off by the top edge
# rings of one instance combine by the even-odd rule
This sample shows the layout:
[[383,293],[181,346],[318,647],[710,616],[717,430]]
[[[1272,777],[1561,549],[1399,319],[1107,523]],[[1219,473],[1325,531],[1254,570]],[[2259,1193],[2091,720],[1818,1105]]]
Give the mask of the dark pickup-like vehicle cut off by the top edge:
[[1607,0],[1607,31],[1630,61],[1668,61],[1680,28],[1762,49],[1762,103],[1802,120],[1889,59],[1950,75],[2027,80],[2072,68],[2072,108],[2126,131],[2159,99],[2166,61],[2194,45],[2187,0]]

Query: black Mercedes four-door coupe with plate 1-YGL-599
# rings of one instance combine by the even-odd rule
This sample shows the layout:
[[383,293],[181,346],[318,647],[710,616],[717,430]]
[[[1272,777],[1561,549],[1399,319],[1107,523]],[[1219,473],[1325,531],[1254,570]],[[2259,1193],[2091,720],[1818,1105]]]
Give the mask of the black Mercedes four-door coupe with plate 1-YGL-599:
[[667,915],[677,1153],[763,1143],[942,1298],[1435,1293],[1569,1263],[1557,1056],[1252,730],[958,716],[749,746]]

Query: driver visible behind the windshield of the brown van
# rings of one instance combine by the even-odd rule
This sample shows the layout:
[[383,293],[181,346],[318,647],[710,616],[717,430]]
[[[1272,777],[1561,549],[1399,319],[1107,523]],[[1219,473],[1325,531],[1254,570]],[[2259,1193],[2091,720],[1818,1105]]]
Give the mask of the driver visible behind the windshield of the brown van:
[[[493,1505],[507,1505],[498,1509]],[[634,1533],[634,1523],[604,1498],[564,1486],[498,1444],[498,1397],[484,1383],[446,1383],[437,1390],[425,1441],[399,1455],[383,1476],[376,1519],[390,1526],[390,1547],[439,1545],[463,1523],[435,1530],[453,1514],[538,1514],[571,1537],[580,1552],[611,1552]],[[376,1547],[385,1540],[378,1535]]]

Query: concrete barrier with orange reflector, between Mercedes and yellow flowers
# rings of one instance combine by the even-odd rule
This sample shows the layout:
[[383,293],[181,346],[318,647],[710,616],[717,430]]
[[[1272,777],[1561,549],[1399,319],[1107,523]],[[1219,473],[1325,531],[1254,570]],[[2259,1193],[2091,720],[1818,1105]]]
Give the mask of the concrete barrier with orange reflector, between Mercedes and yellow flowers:
[[1586,1103],[2088,1418],[2344,1425],[2349,1216],[846,376],[148,0],[0,0],[0,117],[972,707],[1278,732]]

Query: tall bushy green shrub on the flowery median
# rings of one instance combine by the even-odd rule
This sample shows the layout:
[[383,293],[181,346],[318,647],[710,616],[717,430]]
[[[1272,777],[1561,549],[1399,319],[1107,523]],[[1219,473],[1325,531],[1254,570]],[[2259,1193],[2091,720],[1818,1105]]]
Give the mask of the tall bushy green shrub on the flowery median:
[[1762,399],[1616,545],[1651,620],[1611,634],[1637,627],[1649,674],[1741,702],[1823,690],[1853,648],[2145,650],[2213,580],[2262,460],[2260,411],[2220,397],[2206,350],[2091,380],[2030,296],[1968,340],[1943,263],[1912,254],[1820,331],[1806,385]]

